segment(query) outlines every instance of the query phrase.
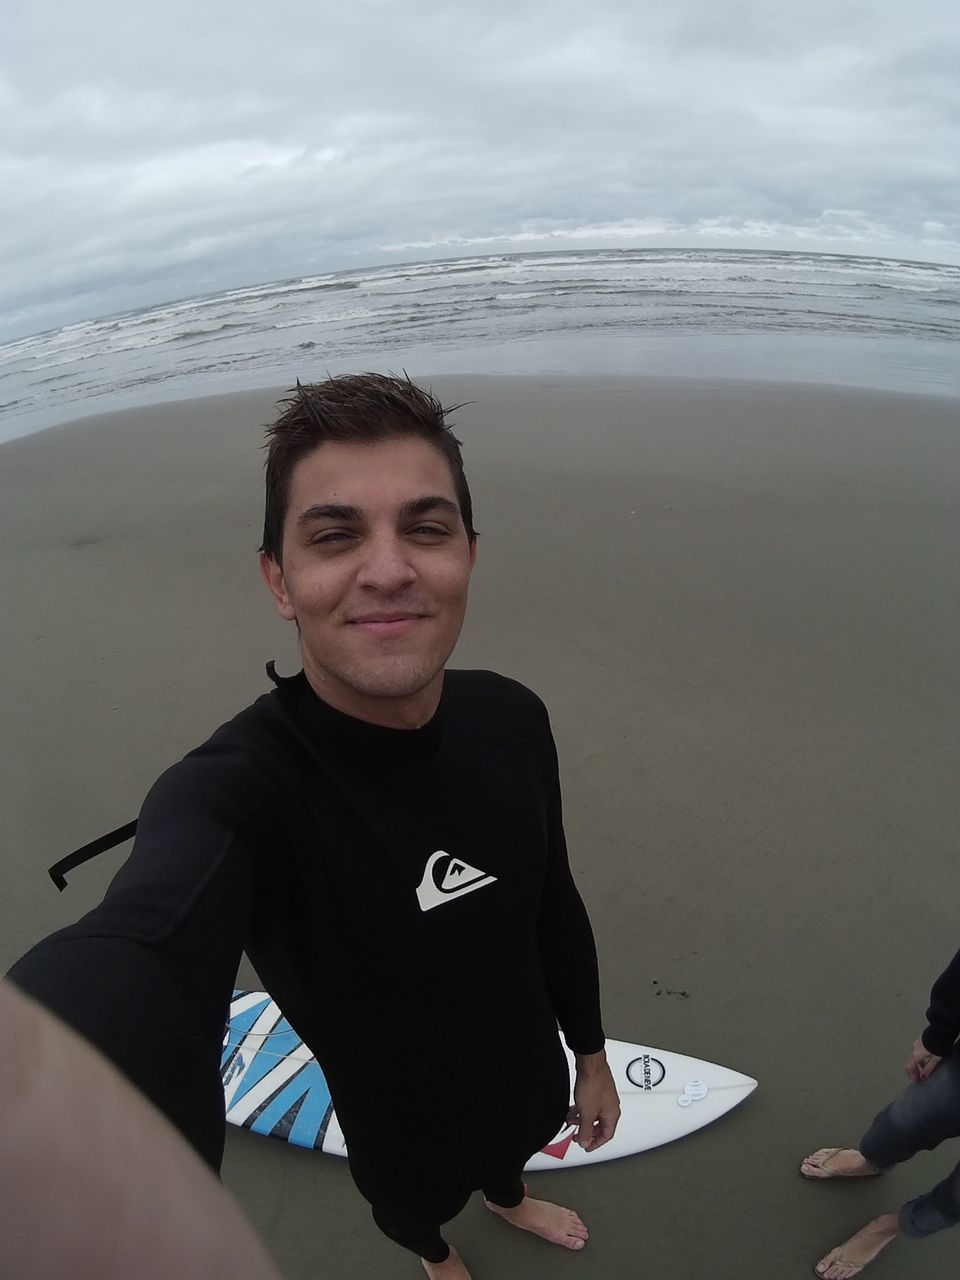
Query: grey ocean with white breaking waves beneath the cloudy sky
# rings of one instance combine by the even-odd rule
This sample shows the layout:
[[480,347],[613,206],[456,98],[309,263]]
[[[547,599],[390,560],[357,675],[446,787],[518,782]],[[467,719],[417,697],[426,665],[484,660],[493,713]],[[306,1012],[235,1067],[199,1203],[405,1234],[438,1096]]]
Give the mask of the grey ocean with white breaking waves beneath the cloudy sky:
[[0,346],[0,440],[328,372],[641,374],[960,396],[960,266],[608,250],[330,271]]

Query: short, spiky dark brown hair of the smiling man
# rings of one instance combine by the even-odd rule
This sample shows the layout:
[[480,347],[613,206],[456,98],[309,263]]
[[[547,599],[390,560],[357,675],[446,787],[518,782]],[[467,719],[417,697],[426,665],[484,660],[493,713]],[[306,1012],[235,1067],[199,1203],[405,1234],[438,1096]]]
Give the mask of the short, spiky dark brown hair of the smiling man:
[[447,425],[445,410],[429,392],[408,378],[387,374],[346,374],[323,383],[307,383],[280,401],[283,412],[268,428],[266,503],[264,543],[260,548],[283,564],[283,526],[289,503],[291,477],[301,458],[321,444],[375,444],[412,436],[428,440],[451,470],[467,539],[476,541],[474,507],[463,475],[460,440]]

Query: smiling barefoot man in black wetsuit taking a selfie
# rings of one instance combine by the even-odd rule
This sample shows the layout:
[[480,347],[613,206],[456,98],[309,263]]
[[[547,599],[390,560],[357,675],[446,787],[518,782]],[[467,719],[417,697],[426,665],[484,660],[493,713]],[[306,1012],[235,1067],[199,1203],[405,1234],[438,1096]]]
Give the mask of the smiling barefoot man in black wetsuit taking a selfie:
[[[376,375],[298,384],[269,436],[261,568],[302,671],[271,673],[274,692],[160,778],[105,901],[13,975],[218,1164],[211,1091],[246,947],[324,1069],[376,1222],[428,1275],[467,1277],[440,1225],[475,1189],[582,1248],[577,1215],[529,1198],[521,1171],[567,1112],[557,1023],[579,1140],[613,1134],[596,955],[543,704],[445,672],[476,559],[458,442],[433,397]],[[129,1034],[77,1012],[91,947],[114,986],[156,970],[175,1057],[142,1027],[145,1066]]]

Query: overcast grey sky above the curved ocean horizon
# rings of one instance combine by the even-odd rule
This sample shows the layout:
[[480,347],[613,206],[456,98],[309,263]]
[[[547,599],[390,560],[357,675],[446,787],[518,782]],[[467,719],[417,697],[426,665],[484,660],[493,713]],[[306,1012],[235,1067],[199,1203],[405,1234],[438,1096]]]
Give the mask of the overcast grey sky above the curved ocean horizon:
[[526,248],[960,262],[956,0],[13,0],[0,335]]

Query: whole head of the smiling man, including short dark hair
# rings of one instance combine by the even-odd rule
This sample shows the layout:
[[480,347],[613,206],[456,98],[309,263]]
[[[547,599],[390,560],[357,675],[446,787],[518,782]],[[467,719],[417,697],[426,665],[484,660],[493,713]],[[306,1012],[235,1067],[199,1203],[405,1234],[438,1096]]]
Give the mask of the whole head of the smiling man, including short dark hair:
[[425,723],[476,557],[443,408],[406,379],[298,385],[269,451],[260,563],[311,686],[360,719]]

